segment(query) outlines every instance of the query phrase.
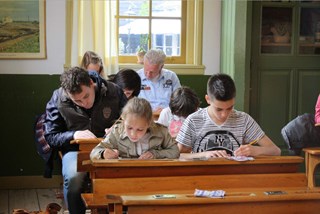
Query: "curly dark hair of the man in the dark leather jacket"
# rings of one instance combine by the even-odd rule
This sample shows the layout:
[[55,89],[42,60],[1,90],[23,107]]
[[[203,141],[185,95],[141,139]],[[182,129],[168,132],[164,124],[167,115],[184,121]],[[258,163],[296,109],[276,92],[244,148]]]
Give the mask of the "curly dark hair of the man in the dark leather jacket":
[[70,68],[60,76],[61,87],[70,94],[82,92],[81,86],[90,86],[91,78],[89,73],[78,66]]

